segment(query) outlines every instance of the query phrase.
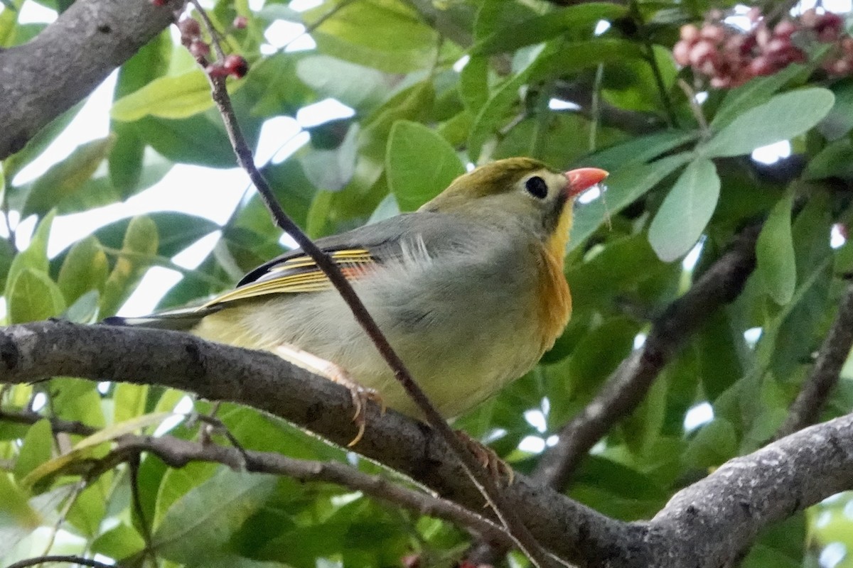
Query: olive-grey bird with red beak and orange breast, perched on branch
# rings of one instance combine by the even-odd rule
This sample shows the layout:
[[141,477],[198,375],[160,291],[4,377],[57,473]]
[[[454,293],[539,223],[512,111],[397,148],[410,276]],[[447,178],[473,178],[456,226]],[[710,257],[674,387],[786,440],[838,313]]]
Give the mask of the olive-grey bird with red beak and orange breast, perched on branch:
[[[435,409],[451,418],[531,370],[566,327],[572,204],[606,175],[596,168],[562,172],[533,158],[496,160],[460,175],[415,212],[316,245],[351,283]],[[265,262],[200,307],[105,321],[273,351],[312,370],[332,369],[323,374],[351,388],[357,409],[367,393],[423,417],[302,250]],[[363,422],[360,428],[357,438]]]

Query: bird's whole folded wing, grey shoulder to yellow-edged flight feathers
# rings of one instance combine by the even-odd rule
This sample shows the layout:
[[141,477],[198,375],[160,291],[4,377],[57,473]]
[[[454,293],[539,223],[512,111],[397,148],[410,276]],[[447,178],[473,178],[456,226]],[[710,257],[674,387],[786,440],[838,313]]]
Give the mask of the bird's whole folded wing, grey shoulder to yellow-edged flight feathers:
[[[315,244],[352,281],[403,255],[404,236],[423,238],[426,235],[428,238],[441,233],[442,227],[449,224],[452,225],[452,221],[441,214],[397,215],[373,225],[317,239]],[[332,287],[316,262],[297,249],[255,268],[241,279],[235,290],[213,298],[202,308],[260,295],[321,292]]]

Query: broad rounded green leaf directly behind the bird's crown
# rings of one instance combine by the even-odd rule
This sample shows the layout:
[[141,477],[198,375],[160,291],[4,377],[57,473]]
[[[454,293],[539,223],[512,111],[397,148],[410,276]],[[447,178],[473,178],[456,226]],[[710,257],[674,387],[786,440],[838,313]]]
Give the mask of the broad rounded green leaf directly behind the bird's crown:
[[414,211],[465,173],[456,152],[434,130],[400,120],[388,137],[388,185],[401,211]]

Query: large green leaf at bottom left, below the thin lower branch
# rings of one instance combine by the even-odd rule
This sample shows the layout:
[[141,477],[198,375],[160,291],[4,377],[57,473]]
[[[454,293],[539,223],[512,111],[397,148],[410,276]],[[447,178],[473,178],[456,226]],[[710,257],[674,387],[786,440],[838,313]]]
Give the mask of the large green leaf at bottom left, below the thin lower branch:
[[154,533],[153,546],[167,559],[204,564],[261,508],[275,487],[273,475],[221,468],[169,508]]

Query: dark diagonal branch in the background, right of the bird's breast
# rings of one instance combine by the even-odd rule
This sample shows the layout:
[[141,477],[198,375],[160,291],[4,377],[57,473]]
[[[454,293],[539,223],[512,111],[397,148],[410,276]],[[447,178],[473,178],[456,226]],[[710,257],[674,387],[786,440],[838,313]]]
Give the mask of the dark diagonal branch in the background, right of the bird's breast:
[[601,392],[560,430],[560,442],[543,454],[533,478],[561,489],[581,458],[612,425],[641,403],[660,370],[711,313],[734,300],[755,268],[760,226],[740,232],[733,246],[672,302],[653,324],[643,347],[631,353]]

